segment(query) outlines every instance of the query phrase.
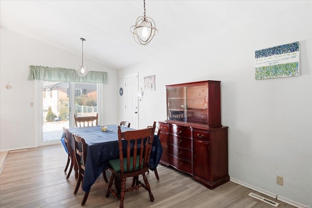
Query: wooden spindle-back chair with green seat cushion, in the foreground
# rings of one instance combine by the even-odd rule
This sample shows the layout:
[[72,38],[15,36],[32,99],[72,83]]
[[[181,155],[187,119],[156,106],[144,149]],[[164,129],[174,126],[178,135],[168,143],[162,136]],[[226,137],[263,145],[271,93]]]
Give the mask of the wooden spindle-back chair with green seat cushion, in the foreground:
[[[109,197],[110,193],[116,196],[120,200],[119,208],[123,208],[125,192],[140,187],[149,192],[150,199],[154,202],[154,196],[145,173],[149,170],[155,128],[156,122],[154,122],[152,128],[126,132],[121,132],[121,127],[118,126],[119,158],[109,161],[109,170],[112,171],[112,176],[108,184],[106,197]],[[127,152],[127,154],[123,155],[123,151]],[[144,184],[138,180],[139,175],[143,176]],[[133,181],[131,187],[126,189],[126,179],[129,177],[133,177]],[[114,179],[116,191],[112,189]]]

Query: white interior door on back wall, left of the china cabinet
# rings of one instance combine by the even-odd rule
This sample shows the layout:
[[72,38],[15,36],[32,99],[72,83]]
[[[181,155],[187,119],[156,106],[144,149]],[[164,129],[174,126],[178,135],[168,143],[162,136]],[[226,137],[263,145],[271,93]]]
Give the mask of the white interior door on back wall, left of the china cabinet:
[[125,76],[125,120],[130,122],[130,127],[138,129],[138,76]]

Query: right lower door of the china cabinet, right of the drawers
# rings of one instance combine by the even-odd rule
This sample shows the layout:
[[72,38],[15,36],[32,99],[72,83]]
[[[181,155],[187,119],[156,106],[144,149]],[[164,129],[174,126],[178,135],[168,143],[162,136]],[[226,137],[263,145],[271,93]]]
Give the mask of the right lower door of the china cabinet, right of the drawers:
[[211,181],[207,141],[193,140],[193,174],[203,180]]

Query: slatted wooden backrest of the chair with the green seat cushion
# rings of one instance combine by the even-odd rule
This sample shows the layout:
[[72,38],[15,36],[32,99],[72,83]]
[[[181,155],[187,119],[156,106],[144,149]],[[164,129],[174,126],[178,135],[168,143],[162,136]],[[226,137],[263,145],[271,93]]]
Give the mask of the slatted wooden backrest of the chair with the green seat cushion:
[[[129,130],[126,132],[121,132],[121,128],[118,126],[118,147],[121,173],[142,170],[147,171],[149,169],[155,128],[155,121],[152,128]],[[124,139],[124,141],[122,139]],[[123,144],[123,142],[125,144]],[[125,158],[123,156],[123,151],[127,152]],[[125,162],[124,160],[127,161]],[[126,167],[124,167],[124,164],[126,164]]]

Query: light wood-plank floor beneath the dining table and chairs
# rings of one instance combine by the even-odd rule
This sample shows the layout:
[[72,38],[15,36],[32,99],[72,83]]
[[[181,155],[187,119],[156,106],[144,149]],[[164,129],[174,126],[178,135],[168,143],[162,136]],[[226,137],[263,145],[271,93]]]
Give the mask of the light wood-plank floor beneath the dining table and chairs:
[[[72,173],[66,180],[66,160],[62,145],[10,152],[0,175],[0,207],[80,208],[84,192],[79,189],[73,194],[76,179]],[[157,170],[159,181],[154,172],[147,173],[155,201],[151,202],[148,192],[141,188],[126,193],[125,208],[273,208],[248,196],[250,192],[279,203],[278,208],[293,208],[231,181],[210,190],[172,168],[159,165]],[[118,208],[119,201],[112,194],[105,197],[107,186],[99,177],[84,207]]]

